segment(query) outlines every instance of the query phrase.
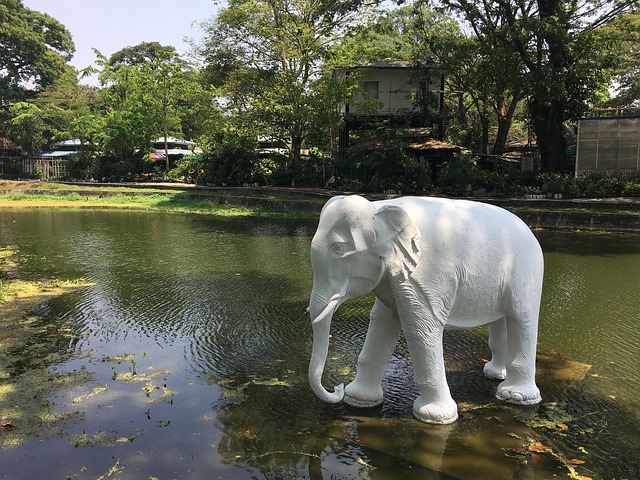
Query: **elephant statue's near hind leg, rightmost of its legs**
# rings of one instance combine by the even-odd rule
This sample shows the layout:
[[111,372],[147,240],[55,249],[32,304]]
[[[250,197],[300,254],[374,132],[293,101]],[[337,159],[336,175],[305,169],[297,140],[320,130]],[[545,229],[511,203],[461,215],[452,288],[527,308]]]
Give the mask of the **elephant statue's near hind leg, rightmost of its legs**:
[[[496,398],[516,405],[533,405],[541,400],[536,386],[537,322],[507,317],[507,374],[498,385]],[[537,318],[537,312],[532,318]]]

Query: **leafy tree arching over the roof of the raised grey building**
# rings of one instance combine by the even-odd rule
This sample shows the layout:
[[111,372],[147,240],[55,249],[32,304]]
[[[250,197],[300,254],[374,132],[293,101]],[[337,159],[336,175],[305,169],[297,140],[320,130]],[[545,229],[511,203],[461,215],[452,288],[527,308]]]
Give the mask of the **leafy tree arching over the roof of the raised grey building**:
[[455,143],[484,153],[504,151],[522,100],[521,92],[504,83],[502,65],[510,59],[496,55],[495,46],[486,39],[464,32],[444,10],[430,8],[426,2],[396,8],[335,51],[332,62],[343,65],[388,58],[410,60],[417,81],[429,80],[434,72],[444,73],[444,110],[439,96],[418,94],[415,98],[421,111],[435,121],[437,134],[447,133]]

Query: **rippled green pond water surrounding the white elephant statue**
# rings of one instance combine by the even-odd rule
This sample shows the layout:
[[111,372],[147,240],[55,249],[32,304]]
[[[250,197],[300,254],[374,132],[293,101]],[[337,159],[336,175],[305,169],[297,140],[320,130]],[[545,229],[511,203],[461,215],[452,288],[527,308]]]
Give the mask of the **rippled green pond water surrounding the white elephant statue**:
[[[64,352],[49,368],[86,382],[43,399],[73,421],[0,451],[0,478],[640,478],[639,236],[536,232],[544,403],[491,404],[486,329],[449,331],[462,414],[432,426],[411,417],[417,391],[402,341],[380,407],[327,405],[309,389],[314,230],[313,221],[2,210],[0,246],[18,250],[23,279],[93,285],[38,312],[73,332],[49,343]],[[334,317],[325,385],[353,377],[371,303]],[[14,367],[22,374],[29,358]]]

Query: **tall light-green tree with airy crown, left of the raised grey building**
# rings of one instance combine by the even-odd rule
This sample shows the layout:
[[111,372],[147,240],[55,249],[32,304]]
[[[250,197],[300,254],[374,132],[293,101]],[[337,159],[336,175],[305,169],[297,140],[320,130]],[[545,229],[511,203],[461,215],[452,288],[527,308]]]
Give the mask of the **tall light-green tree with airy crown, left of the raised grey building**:
[[366,21],[358,3],[231,0],[206,25],[202,55],[209,72],[220,65],[210,78],[222,85],[228,111],[256,135],[286,143],[294,171],[305,139],[327,131],[317,123],[319,90],[330,83],[322,62],[352,25]]

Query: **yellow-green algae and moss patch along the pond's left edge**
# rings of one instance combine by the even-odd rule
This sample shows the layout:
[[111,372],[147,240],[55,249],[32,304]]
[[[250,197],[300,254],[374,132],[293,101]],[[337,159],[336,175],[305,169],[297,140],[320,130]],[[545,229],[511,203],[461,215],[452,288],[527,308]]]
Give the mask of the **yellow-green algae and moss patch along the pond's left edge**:
[[0,449],[23,445],[29,438],[55,435],[79,419],[49,401],[55,392],[92,381],[86,371],[63,374],[55,365],[72,354],[51,345],[73,342],[75,333],[46,322],[40,305],[91,285],[84,279],[25,281],[18,271],[19,252],[0,247]]

